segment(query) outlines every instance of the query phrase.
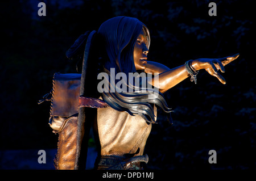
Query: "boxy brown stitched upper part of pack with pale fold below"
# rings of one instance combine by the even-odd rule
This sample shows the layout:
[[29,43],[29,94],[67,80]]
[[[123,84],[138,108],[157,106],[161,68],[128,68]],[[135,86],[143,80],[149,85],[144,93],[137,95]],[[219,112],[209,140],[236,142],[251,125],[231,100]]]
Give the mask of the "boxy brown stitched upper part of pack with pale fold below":
[[67,121],[77,117],[79,111],[81,74],[53,75],[53,89],[49,125],[53,133],[60,132]]

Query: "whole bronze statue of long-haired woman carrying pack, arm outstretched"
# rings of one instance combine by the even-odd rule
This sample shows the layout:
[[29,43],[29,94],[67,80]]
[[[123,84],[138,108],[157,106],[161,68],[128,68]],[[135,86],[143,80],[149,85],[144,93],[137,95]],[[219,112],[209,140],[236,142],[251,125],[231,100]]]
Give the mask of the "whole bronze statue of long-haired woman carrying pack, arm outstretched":
[[[49,124],[59,134],[56,169],[85,168],[91,126],[99,151],[95,169],[143,169],[141,162],[148,161],[144,146],[156,122],[156,107],[172,123],[162,93],[190,76],[196,83],[201,69],[225,84],[218,70],[224,72],[224,66],[239,56],[199,58],[169,69],[147,60],[149,47],[150,33],[142,22],[117,16],[102,23],[97,32],[81,35],[68,50],[68,58],[81,57],[81,74],[53,77]],[[151,76],[129,76],[136,72]],[[104,86],[99,84],[100,74],[107,82]],[[120,80],[122,86],[117,89]],[[150,86],[154,88],[147,89]]]

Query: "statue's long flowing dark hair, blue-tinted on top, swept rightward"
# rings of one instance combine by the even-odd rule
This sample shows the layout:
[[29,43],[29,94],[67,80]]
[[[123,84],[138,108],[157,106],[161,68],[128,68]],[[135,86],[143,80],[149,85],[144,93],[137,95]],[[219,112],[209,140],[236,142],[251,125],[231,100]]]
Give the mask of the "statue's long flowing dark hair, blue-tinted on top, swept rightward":
[[[100,56],[101,64],[104,71],[109,73],[111,68],[115,69],[115,74],[125,73],[128,77],[129,73],[135,73],[134,64],[134,45],[141,31],[146,32],[147,48],[150,47],[150,33],[147,27],[137,18],[127,16],[117,16],[106,20],[102,23],[97,31],[98,56]],[[109,82],[109,90],[111,85]],[[153,91],[141,88],[134,92],[102,92],[102,98],[110,107],[117,111],[125,111],[130,115],[138,114],[144,120],[155,123],[155,115],[153,105],[162,108],[167,113],[167,119],[172,122],[170,108],[168,108],[163,95],[154,94]]]

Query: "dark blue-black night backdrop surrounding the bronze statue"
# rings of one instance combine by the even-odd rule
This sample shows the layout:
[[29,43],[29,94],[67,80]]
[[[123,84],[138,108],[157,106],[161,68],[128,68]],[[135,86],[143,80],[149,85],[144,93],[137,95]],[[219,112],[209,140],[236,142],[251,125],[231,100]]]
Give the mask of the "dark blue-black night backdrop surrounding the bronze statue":
[[[39,2],[46,3],[46,16],[38,16]],[[216,2],[217,16],[208,15],[209,2]],[[197,85],[186,79],[164,94],[175,111],[174,124],[158,113],[144,151],[150,158],[145,169],[255,170],[254,10],[253,1],[231,0],[1,2],[1,153],[56,149],[57,135],[48,125],[50,103],[38,105],[38,100],[51,90],[55,72],[76,73],[65,52],[77,37],[126,15],[150,30],[148,60],[170,68],[240,53],[221,73],[226,85],[201,70]],[[216,164],[208,162],[212,149]]]

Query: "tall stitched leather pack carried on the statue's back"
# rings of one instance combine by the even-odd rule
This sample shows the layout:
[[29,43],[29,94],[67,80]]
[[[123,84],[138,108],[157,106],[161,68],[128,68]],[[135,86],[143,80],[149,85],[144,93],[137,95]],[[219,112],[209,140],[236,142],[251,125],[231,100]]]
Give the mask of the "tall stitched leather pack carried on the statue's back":
[[[66,53],[70,60],[78,58],[80,61],[84,55],[82,73],[55,73],[53,76],[49,125],[53,133],[59,134],[54,159],[56,169],[85,169],[90,125],[97,114],[90,108],[108,106],[103,100],[97,99],[98,65],[94,57],[97,53],[91,48],[94,35],[96,31],[81,35]],[[39,103],[49,100],[48,95],[43,96]]]

